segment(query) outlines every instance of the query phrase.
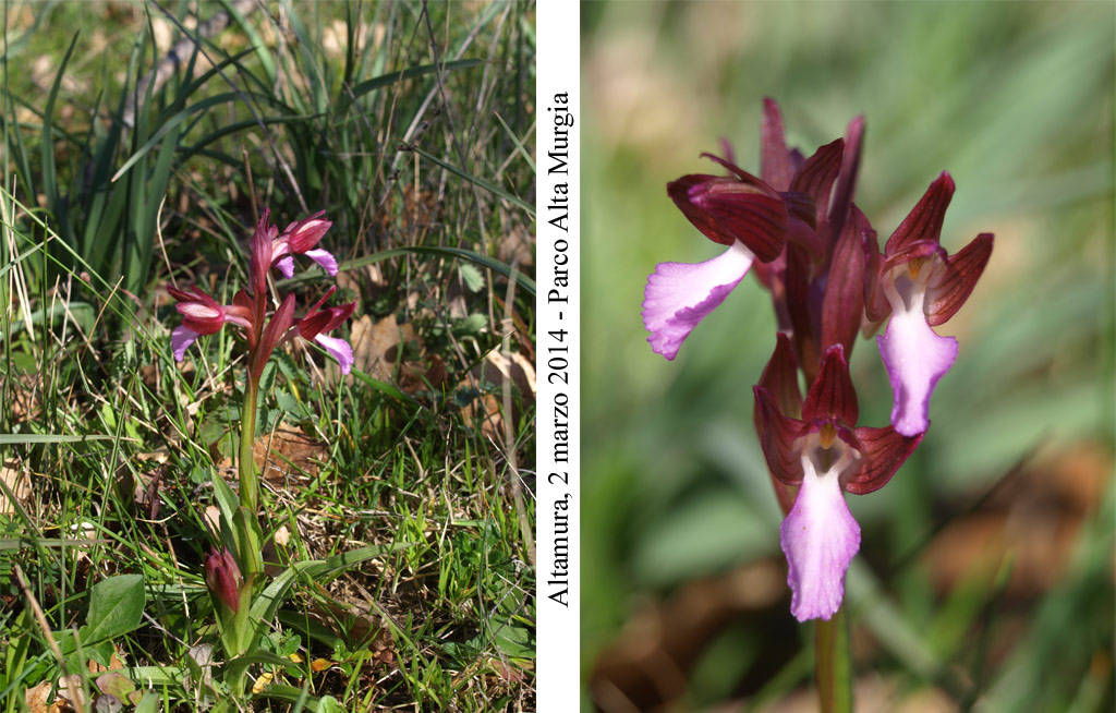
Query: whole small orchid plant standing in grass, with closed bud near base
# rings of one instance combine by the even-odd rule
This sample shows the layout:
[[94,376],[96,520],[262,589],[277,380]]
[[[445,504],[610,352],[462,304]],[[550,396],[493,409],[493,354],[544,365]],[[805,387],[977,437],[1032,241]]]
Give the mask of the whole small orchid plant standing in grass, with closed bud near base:
[[[263,628],[260,611],[266,607],[253,606],[257,600],[264,594],[269,603],[277,598],[275,592],[262,591],[263,528],[260,518],[259,474],[252,455],[263,367],[275,349],[291,339],[317,344],[337,360],[344,374],[348,374],[353,367],[353,349],[349,344],[327,334],[340,327],[353,315],[356,302],[323,307],[336,290],[330,287],[301,317],[296,317],[294,293],[273,301],[268,291],[270,271],[276,269],[285,277],[291,277],[295,258],[298,256],[306,256],[315,261],[330,277],[337,274],[337,261],[329,252],[317,248],[331,225],[324,214],[315,213],[290,223],[279,232],[270,223],[269,212],[264,210],[250,241],[249,287],[247,290],[239,290],[231,305],[219,303],[198,287],[191,287],[189,291],[169,289],[177,300],[175,308],[182,315],[182,324],[171,334],[171,347],[177,362],[182,362],[186,349],[199,337],[215,334],[225,324],[239,327],[244,337],[248,374],[240,423],[239,503],[231,498],[221,503],[222,542],[211,549],[203,563],[205,585],[217,610],[221,643],[229,659],[243,657],[258,643]],[[229,492],[228,486],[217,473],[213,482],[221,500],[221,494]],[[234,675],[230,691],[238,697],[243,692],[242,677],[246,668],[247,665],[231,667]]]

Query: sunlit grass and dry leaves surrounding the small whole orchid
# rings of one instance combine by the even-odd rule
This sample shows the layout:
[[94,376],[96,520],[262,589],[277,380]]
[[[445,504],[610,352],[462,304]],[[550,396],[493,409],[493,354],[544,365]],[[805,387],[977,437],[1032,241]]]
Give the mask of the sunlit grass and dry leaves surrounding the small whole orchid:
[[[241,263],[270,205],[280,225],[311,206],[334,220],[358,363],[343,379],[317,354],[280,355],[264,375],[266,556],[386,553],[298,584],[266,643],[289,663],[250,668],[256,706],[531,710],[533,513],[517,516],[513,483],[531,486],[516,464],[533,460],[533,404],[493,368],[532,356],[532,172],[517,148],[533,129],[530,8],[233,12],[125,126],[126,93],[165,49],[152,38],[187,31],[191,7],[117,26],[103,10],[89,33],[138,37],[126,68],[86,30],[59,46],[49,17],[7,27],[58,70],[45,103],[20,81],[2,97],[2,707],[59,695],[64,675],[66,696],[106,695],[117,665],[150,694],[141,707],[204,705],[208,482],[242,369],[224,333],[174,365],[160,286],[231,301],[242,276],[214,266]],[[311,289],[299,274],[287,288]],[[67,634],[89,630],[90,592],[122,575],[142,577],[142,618],[107,643]]]

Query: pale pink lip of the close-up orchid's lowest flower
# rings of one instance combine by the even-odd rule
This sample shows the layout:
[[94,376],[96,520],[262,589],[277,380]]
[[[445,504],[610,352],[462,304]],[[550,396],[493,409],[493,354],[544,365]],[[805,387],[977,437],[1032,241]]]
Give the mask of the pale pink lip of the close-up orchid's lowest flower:
[[848,511],[836,472],[818,475],[802,459],[802,485],[779,528],[793,596],[790,613],[799,622],[828,619],[845,596],[845,571],[860,549],[860,526]]

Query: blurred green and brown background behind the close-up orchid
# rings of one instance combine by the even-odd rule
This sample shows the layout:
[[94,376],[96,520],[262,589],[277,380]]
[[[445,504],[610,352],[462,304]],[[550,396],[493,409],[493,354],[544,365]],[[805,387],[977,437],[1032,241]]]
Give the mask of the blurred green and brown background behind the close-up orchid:
[[[942,244],[995,233],[939,328],[961,353],[923,445],[849,498],[862,710],[1112,710],[1114,4],[593,2],[581,21],[586,706],[815,705],[752,427],[769,296],[745,279],[674,363],[639,318],[656,262],[721,251],[666,182],[719,173],[699,153],[721,137],[758,174],[770,96],[806,155],[865,116],[856,202],[881,243],[943,170]],[[886,424],[874,340],[852,368],[860,423]]]

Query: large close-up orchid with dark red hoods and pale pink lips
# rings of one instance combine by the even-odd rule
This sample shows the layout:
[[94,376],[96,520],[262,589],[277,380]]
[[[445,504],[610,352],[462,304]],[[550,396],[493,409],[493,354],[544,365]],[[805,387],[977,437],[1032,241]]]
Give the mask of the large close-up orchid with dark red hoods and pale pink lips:
[[[860,546],[844,493],[883,488],[930,427],[934,386],[958,356],[956,339],[933,328],[969,298],[991,256],[992,234],[952,256],[941,247],[954,191],[943,172],[881,253],[853,202],[862,117],[844,138],[806,157],[787,148],[779,108],[766,99],[761,135],[759,177],[733,163],[725,143],[723,157],[702,154],[725,175],[691,174],[667,184],[690,222],[727,250],[698,264],[658,264],[644,292],[643,322],[652,349],[674,359],[753,267],[771,293],[778,333],[753,388],[756,430],[786,516],[780,541],[791,613],[799,622],[821,620],[819,693],[822,709],[835,710],[831,674],[841,653],[831,647],[828,625],[840,611],[845,574]],[[894,392],[891,424],[857,426],[848,356],[857,334],[870,336],[885,319],[877,344]]]

